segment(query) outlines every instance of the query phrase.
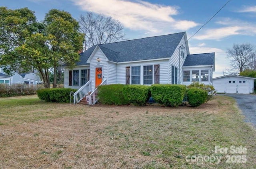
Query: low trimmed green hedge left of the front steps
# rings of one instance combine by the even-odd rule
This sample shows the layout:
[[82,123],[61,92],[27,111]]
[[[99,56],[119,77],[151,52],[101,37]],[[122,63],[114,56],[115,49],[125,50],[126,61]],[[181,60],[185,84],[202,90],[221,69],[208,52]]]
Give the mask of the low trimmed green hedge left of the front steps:
[[[45,100],[46,102],[69,103],[70,92],[76,91],[76,89],[72,88],[44,88],[37,90],[37,96],[40,100]],[[72,96],[71,100],[73,101],[73,99]]]

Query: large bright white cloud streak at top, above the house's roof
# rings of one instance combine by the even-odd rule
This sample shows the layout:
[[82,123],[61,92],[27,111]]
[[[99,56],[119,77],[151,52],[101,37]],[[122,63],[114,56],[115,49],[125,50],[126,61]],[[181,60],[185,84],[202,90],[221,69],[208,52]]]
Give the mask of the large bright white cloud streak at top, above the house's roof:
[[198,24],[189,20],[175,20],[177,6],[152,4],[142,0],[70,0],[82,10],[102,13],[119,20],[124,28],[161,33],[170,30],[188,30]]

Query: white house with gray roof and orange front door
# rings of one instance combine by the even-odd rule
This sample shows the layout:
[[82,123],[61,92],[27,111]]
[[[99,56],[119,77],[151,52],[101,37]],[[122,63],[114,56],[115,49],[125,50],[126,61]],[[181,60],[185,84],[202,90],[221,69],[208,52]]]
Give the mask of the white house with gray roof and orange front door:
[[186,32],[98,44],[80,54],[73,70],[65,69],[64,87],[94,91],[101,83],[212,85],[214,57],[190,55]]

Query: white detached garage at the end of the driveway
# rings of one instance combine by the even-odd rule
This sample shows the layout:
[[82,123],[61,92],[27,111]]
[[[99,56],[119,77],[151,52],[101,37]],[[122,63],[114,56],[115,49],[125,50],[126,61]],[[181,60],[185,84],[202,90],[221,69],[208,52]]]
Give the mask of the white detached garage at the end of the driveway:
[[226,75],[212,79],[212,85],[217,93],[252,93],[254,91],[252,77]]

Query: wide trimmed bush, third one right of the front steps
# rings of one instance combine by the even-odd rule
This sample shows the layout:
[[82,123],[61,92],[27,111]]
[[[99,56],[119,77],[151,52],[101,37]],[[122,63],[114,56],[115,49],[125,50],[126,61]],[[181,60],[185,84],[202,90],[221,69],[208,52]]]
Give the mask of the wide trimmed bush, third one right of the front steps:
[[186,92],[185,85],[152,85],[152,98],[164,106],[177,107],[182,104],[184,94]]

